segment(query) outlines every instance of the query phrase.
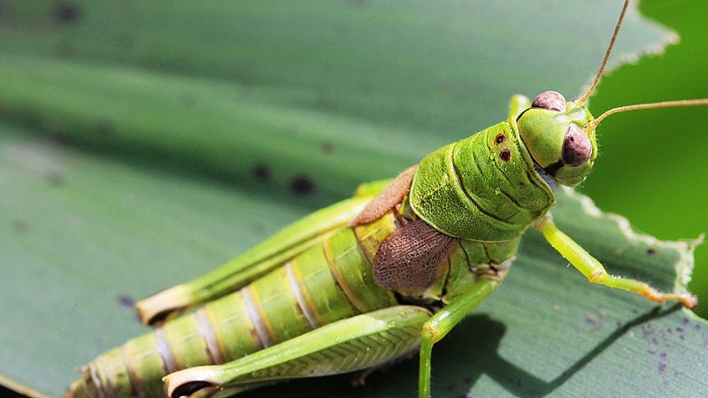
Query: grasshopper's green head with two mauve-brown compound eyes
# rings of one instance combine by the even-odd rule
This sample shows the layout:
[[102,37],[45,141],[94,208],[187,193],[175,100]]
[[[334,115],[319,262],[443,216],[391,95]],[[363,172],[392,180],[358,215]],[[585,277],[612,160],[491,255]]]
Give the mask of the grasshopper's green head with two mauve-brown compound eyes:
[[589,127],[592,119],[587,107],[544,91],[516,123],[535,163],[559,183],[575,187],[588,176],[597,157],[595,128]]

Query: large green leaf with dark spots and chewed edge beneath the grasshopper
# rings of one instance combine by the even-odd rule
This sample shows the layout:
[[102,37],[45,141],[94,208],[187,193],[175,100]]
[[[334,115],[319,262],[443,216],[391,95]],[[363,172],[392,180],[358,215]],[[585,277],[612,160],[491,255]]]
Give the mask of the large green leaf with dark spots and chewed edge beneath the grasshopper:
[[[514,93],[580,92],[620,4],[566,3],[3,4],[0,382],[61,394],[145,331],[132,300],[504,119]],[[667,37],[627,20],[613,59]],[[691,245],[562,195],[558,224],[611,272],[671,289],[690,269]],[[435,347],[435,396],[705,388],[703,320],[565,265],[528,233],[504,286]],[[363,390],[250,396],[411,396],[416,379],[412,361]]]

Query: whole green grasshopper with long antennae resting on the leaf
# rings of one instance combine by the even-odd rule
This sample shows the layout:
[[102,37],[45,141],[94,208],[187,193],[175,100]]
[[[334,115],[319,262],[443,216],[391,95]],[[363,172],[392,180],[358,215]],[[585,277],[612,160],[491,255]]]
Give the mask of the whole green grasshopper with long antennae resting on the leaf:
[[549,212],[558,184],[576,187],[587,177],[604,118],[708,105],[644,103],[593,118],[583,103],[602,76],[627,5],[579,100],[566,102],[554,91],[533,101],[513,96],[509,119],[435,150],[388,185],[359,187],[201,278],[138,302],[155,331],[98,356],[65,397],[227,396],[364,370],[416,350],[419,396],[428,397],[433,345],[502,283],[529,226],[590,282],[695,307],[689,293],[609,275]]

